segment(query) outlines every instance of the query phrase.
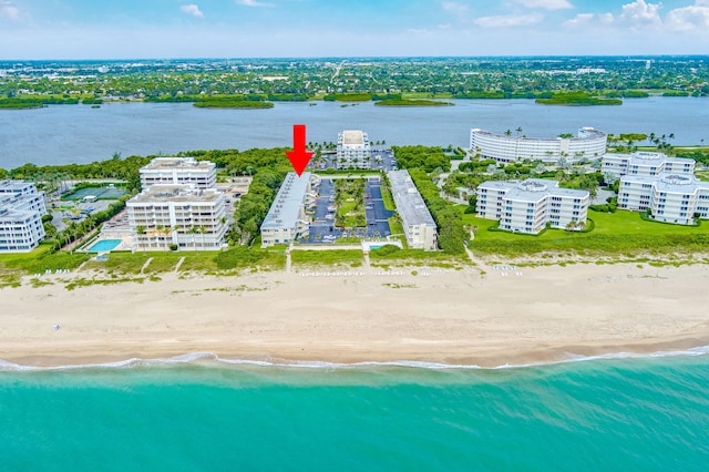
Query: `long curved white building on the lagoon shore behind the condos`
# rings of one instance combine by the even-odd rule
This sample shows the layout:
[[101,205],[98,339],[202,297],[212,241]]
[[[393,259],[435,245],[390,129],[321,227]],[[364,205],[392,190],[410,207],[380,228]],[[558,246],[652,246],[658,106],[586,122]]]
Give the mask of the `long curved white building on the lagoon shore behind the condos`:
[[543,161],[557,163],[597,158],[606,153],[608,136],[593,127],[582,127],[577,137],[523,137],[513,134],[494,134],[473,129],[470,131],[470,148],[482,158],[493,158],[506,164],[515,161]]

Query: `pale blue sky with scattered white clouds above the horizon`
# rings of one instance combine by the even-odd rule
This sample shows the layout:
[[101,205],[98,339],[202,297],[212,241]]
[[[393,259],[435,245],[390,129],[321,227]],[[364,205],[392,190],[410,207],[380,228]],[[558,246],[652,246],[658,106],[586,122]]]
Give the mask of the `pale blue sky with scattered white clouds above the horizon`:
[[0,0],[0,59],[709,53],[709,0]]

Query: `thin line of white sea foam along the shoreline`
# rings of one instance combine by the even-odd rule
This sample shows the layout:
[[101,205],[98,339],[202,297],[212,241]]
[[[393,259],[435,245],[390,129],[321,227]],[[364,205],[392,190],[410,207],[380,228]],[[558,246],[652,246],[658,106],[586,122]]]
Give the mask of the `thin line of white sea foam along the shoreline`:
[[567,352],[565,359],[531,362],[531,363],[505,363],[493,367],[481,367],[477,365],[464,363],[442,363],[425,362],[415,360],[394,360],[394,361],[363,361],[363,362],[329,362],[319,360],[288,360],[288,359],[248,359],[248,358],[220,358],[214,352],[188,352],[171,358],[140,359],[131,358],[115,362],[100,362],[86,365],[68,365],[68,366],[22,366],[0,359],[0,371],[43,371],[43,370],[79,370],[79,369],[131,369],[147,366],[163,365],[185,365],[197,362],[214,362],[230,366],[255,366],[255,367],[279,367],[279,368],[298,368],[298,369],[362,369],[362,368],[380,368],[380,367],[403,367],[412,369],[431,369],[431,370],[500,370],[500,369],[521,369],[528,367],[554,366],[568,362],[587,362],[594,360],[613,360],[613,359],[645,359],[645,358],[670,358],[670,357],[697,357],[709,355],[709,346],[698,346],[685,350],[656,351],[649,353],[638,352],[609,352],[597,356],[582,356]]

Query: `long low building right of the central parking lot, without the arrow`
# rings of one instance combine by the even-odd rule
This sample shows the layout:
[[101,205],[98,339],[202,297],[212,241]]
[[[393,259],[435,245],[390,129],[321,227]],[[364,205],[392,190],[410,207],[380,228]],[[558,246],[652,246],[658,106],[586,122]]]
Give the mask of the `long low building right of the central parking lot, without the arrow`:
[[409,171],[390,171],[387,176],[401,217],[409,247],[438,249],[438,228]]

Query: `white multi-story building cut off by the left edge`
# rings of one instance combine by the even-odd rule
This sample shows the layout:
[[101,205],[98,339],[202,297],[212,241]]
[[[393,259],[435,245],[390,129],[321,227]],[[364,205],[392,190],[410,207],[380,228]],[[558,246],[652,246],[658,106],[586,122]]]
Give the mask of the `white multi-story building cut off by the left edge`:
[[44,195],[34,184],[0,181],[0,253],[35,248],[44,239]]

